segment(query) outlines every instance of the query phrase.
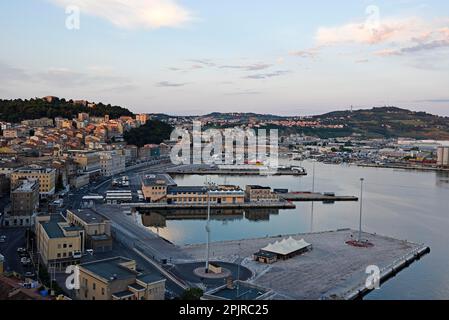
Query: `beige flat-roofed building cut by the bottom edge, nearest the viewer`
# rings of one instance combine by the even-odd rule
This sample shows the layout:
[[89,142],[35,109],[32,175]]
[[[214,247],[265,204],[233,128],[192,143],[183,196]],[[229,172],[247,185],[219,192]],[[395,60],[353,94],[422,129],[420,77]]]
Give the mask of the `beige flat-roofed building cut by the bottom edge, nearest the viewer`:
[[80,300],[164,300],[165,279],[136,271],[134,260],[123,257],[79,266]]

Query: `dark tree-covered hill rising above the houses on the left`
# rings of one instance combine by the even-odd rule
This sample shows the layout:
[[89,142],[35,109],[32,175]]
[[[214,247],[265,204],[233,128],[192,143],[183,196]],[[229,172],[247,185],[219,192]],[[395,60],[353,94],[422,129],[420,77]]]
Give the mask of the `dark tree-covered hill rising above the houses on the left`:
[[91,116],[109,115],[111,119],[133,115],[128,109],[119,106],[103,103],[91,104],[87,101],[73,101],[57,97],[0,100],[0,120],[12,123],[42,117],[72,118],[80,112],[89,113]]

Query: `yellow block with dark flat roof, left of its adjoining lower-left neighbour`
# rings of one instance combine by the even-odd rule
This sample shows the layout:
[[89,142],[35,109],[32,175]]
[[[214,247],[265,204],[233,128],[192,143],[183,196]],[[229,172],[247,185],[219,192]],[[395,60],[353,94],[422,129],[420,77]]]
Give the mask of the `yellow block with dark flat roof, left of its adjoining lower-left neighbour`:
[[62,215],[37,216],[35,222],[36,245],[40,260],[47,267],[65,270],[79,264],[84,230],[70,224]]

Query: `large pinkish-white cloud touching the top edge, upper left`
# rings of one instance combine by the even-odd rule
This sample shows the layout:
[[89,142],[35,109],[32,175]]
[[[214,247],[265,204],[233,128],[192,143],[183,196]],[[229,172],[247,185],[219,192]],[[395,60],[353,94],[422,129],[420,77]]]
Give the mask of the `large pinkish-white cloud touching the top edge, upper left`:
[[106,19],[125,29],[178,27],[192,20],[191,12],[175,0],[50,0],[56,5],[76,6],[81,15]]

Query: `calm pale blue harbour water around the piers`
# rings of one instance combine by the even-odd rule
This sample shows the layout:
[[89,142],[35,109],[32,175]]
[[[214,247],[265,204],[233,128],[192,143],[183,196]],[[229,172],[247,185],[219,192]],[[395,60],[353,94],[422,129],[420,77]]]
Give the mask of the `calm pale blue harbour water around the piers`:
[[[299,163],[298,163],[299,164]],[[312,164],[302,165],[312,172]],[[448,299],[449,298],[449,175],[392,169],[360,168],[316,164],[315,190],[338,195],[359,195],[364,184],[363,228],[398,239],[425,243],[431,253],[391,279],[367,299]],[[269,185],[295,191],[311,190],[307,177],[222,177],[209,176],[216,183]],[[179,185],[202,185],[205,177],[177,177]],[[294,210],[261,214],[260,220],[243,214],[215,217],[212,240],[233,240],[302,233],[309,231],[358,228],[358,202],[335,204],[297,203]],[[257,217],[256,217],[257,218]],[[167,219],[154,231],[177,244],[204,243],[205,220]]]

